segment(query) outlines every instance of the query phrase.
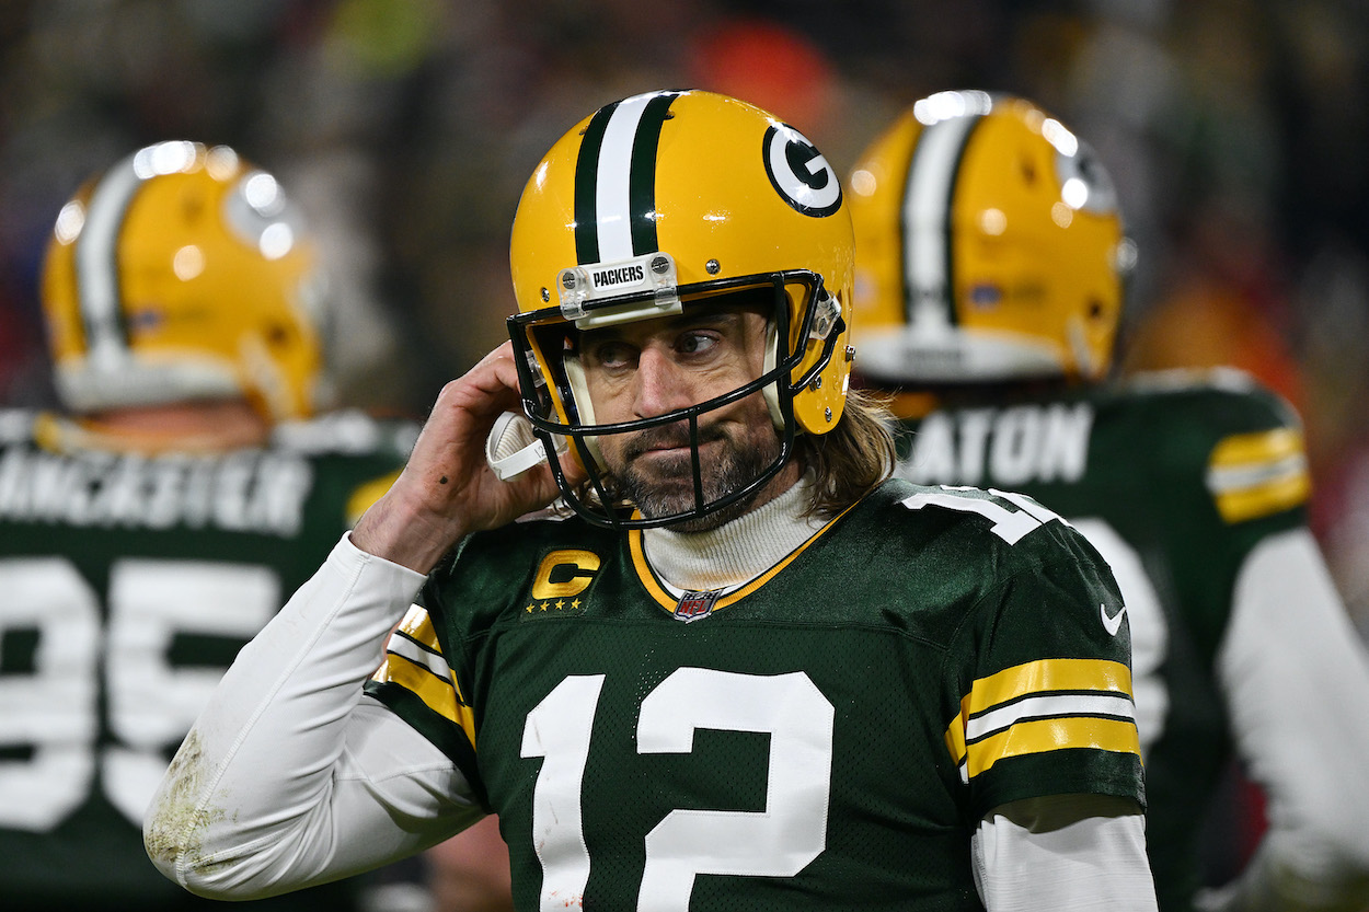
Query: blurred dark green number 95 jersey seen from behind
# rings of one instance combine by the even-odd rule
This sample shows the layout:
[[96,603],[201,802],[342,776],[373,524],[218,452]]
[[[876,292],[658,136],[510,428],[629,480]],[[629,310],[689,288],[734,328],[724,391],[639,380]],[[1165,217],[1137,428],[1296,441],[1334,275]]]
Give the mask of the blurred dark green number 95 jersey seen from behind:
[[233,656],[413,430],[335,415],[263,449],[156,457],[63,449],[71,433],[0,412],[0,908],[219,908],[152,867],[142,812]]

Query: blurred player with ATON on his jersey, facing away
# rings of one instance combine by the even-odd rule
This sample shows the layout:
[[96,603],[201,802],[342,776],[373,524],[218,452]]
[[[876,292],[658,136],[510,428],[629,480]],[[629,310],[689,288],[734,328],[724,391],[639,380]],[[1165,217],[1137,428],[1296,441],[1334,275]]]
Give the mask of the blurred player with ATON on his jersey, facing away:
[[[856,368],[905,420],[898,474],[1025,492],[1113,567],[1161,908],[1365,908],[1369,660],[1306,527],[1298,416],[1236,371],[1110,377],[1135,248],[1106,170],[1032,103],[923,99],[850,190]],[[1232,752],[1269,828],[1195,896]]]

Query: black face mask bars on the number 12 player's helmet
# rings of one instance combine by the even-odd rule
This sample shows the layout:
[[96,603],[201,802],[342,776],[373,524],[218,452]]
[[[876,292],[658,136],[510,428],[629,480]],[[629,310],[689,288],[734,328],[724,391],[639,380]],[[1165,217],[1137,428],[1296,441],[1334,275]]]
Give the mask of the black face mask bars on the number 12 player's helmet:
[[[790,315],[795,299],[805,303],[799,309],[804,319],[797,331],[791,331],[794,327],[790,326]],[[828,304],[820,305],[819,301]],[[553,446],[554,435],[571,441],[589,481],[576,490],[567,485],[554,460],[552,470],[567,504],[596,524],[624,529],[668,526],[747,503],[793,456],[798,430],[794,397],[819,377],[832,357],[841,335],[841,318],[824,316],[834,312],[834,303],[826,294],[821,278],[806,271],[738,277],[680,289],[676,303],[668,308],[671,315],[665,316],[652,315],[654,307],[650,293],[638,293],[591,303],[578,319],[571,320],[565,319],[560,307],[509,318],[524,412],[543,445]],[[634,320],[619,319],[624,312],[642,311],[648,315]],[[680,326],[689,326],[691,316],[702,319],[719,311],[752,311],[765,318],[765,360],[757,377],[705,401],[661,415],[606,423],[596,420],[582,357],[586,334],[622,322],[679,320]],[[823,351],[815,364],[805,366],[808,346],[795,346],[787,340],[813,337],[823,340]],[[730,479],[731,483],[723,490],[705,490],[708,485],[700,445],[706,435],[711,415],[756,394],[764,397],[775,429],[778,448],[773,456],[764,464],[753,466],[747,477]],[[664,426],[683,426],[682,433],[687,434],[693,497],[682,509],[648,516],[634,511],[637,504],[624,494],[622,479],[605,463],[601,441]]]

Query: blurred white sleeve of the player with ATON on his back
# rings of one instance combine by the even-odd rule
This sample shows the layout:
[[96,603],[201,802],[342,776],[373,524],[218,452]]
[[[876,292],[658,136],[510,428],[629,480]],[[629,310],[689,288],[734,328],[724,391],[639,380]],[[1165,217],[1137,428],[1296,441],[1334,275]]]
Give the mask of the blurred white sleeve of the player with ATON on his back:
[[1270,535],[1242,566],[1217,674],[1269,830],[1210,909],[1369,907],[1369,653],[1306,529]]

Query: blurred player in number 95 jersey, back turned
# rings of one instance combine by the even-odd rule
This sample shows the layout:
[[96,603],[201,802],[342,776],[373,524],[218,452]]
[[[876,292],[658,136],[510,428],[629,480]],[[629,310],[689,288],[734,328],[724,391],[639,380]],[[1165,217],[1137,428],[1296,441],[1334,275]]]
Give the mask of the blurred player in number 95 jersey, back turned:
[[[226,147],[142,148],[57,215],[42,307],[68,414],[0,411],[5,908],[218,905],[152,867],[144,808],[234,653],[415,435],[314,418],[315,263],[294,204]],[[279,905],[359,902],[344,882]]]

